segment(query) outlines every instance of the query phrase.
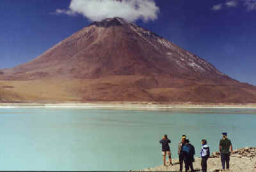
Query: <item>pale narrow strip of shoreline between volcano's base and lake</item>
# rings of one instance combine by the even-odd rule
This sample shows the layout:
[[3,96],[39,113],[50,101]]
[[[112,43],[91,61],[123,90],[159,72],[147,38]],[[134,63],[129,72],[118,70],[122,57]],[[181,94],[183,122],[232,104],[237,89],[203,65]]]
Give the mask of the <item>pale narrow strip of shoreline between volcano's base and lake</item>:
[[61,102],[0,103],[0,109],[12,108],[74,108],[74,109],[256,109],[256,104],[193,104],[168,102]]

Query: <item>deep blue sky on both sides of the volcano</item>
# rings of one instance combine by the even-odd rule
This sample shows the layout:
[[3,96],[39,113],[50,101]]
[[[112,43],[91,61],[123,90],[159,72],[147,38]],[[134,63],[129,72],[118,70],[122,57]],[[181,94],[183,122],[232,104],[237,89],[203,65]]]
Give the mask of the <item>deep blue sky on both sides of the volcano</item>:
[[[28,62],[90,24],[80,14],[56,13],[68,12],[70,2],[2,0],[0,68]],[[138,26],[206,59],[230,77],[256,85],[256,0],[155,2],[157,19],[136,20]]]

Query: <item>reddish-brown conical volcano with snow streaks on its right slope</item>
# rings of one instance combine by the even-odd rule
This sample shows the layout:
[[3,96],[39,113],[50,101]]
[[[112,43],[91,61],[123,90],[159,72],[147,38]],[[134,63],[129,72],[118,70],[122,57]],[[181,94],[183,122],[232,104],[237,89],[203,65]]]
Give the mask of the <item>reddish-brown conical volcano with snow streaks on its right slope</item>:
[[147,29],[93,22],[28,63],[0,71],[0,102],[254,103],[256,87]]

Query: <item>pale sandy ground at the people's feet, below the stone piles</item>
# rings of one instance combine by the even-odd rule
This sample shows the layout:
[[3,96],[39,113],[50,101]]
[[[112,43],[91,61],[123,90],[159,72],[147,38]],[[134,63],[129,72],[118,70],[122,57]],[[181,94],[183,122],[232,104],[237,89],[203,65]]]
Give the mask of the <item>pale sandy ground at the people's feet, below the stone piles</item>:
[[[166,162],[168,160],[166,159]],[[256,172],[255,168],[256,159],[249,159],[246,157],[237,158],[237,157],[230,157],[230,170],[229,172]],[[145,168],[140,171],[179,171],[179,159],[173,159],[173,166],[167,164],[167,166],[157,166],[154,168]],[[193,163],[195,171],[202,171],[201,170],[201,159],[196,158],[195,162]],[[207,171],[223,171],[221,170],[221,161],[220,158],[210,158],[207,161]],[[185,169],[183,168],[183,171]],[[227,170],[226,170],[227,171]]]

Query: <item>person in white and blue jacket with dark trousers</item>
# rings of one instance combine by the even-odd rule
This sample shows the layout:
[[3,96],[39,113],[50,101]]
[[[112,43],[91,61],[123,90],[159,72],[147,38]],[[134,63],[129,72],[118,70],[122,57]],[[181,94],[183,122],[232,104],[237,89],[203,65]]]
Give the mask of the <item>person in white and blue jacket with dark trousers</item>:
[[206,172],[207,171],[207,160],[210,157],[210,148],[207,145],[207,141],[205,139],[202,140],[202,149],[200,152],[201,155],[201,166],[202,166],[202,171]]

